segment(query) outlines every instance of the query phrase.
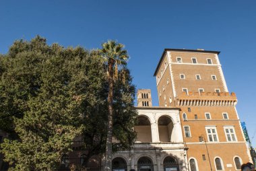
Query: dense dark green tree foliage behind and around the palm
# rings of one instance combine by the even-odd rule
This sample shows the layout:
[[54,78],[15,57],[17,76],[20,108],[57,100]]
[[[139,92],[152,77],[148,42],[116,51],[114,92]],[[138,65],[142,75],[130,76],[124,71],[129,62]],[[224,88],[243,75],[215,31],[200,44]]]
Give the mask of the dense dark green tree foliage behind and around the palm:
[[[135,88],[126,69],[114,96],[115,150],[135,139]],[[10,170],[55,170],[73,140],[83,137],[90,156],[106,148],[108,81],[98,50],[63,48],[36,36],[18,40],[0,57],[1,144]],[[117,145],[118,144],[118,145]]]

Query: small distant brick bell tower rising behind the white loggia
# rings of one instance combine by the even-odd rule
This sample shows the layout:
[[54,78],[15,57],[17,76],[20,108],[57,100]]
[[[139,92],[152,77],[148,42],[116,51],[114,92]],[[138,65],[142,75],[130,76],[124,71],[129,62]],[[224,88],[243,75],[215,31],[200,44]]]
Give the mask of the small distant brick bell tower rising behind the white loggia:
[[152,106],[151,90],[150,89],[139,89],[137,92],[137,106]]

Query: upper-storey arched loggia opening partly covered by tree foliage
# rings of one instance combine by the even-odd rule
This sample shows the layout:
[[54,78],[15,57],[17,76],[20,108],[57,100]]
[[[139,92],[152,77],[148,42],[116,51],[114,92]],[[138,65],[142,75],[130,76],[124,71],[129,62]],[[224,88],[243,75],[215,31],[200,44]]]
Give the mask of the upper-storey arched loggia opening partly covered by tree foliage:
[[138,123],[134,127],[135,131],[137,132],[136,141],[141,143],[152,142],[150,120],[146,116],[138,116],[137,119]]

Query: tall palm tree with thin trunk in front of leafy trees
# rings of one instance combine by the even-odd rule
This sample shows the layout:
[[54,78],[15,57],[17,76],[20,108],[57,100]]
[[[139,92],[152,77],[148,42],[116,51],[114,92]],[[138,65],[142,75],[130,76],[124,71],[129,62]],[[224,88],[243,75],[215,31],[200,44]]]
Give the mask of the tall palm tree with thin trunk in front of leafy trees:
[[[129,59],[124,45],[114,40],[108,40],[102,44],[100,50],[103,59],[108,67],[108,125],[106,137],[106,164],[105,171],[112,170],[112,138],[113,138],[113,88],[118,79],[119,70],[127,65]],[[122,70],[124,71],[124,70]]]

